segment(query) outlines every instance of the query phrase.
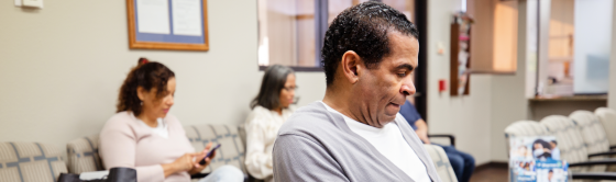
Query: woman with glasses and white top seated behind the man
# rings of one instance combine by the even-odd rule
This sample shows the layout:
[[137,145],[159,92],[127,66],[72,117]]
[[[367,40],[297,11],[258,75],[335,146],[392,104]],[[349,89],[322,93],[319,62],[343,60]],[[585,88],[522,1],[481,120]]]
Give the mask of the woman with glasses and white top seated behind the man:
[[278,128],[293,114],[289,107],[295,98],[295,73],[282,65],[265,70],[261,90],[252,101],[246,118],[246,169],[260,180],[273,181],[272,150]]

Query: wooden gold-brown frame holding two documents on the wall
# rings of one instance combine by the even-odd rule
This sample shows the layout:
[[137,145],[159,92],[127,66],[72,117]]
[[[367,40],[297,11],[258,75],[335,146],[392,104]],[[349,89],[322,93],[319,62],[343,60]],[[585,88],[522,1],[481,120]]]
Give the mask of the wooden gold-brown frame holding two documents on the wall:
[[127,0],[129,46],[208,50],[207,0]]

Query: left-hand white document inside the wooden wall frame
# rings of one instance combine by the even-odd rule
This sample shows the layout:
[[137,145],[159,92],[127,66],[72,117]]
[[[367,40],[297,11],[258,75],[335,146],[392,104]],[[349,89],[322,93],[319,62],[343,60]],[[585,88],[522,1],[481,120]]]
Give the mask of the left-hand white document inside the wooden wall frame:
[[140,33],[170,34],[167,0],[136,0],[136,20]]

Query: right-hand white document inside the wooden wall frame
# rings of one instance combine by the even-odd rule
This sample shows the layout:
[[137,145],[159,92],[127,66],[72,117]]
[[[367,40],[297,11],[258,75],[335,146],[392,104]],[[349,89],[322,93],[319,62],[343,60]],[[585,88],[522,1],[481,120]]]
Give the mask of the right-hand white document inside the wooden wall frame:
[[201,36],[204,34],[201,7],[200,0],[172,0],[175,35]]

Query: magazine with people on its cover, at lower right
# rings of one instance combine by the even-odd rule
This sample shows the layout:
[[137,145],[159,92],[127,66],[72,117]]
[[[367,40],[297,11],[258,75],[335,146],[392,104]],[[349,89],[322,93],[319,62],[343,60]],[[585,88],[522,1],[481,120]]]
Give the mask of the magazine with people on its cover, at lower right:
[[560,160],[553,136],[512,137],[509,172],[513,182],[566,182],[568,163]]

